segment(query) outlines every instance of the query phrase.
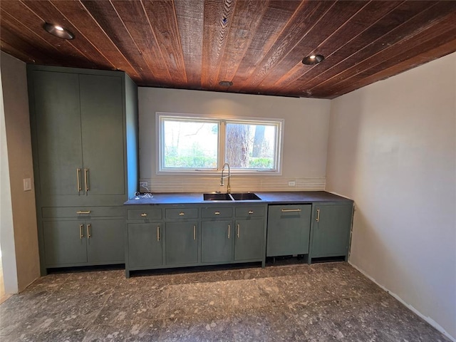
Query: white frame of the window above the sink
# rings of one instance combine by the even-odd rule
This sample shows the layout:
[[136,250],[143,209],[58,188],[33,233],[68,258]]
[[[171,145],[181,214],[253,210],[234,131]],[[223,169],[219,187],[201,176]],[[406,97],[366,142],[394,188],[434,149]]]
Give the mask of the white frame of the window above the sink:
[[[176,118],[183,120],[202,120],[206,122],[217,122],[219,125],[219,140],[217,147],[217,168],[213,169],[170,169],[164,168],[162,165],[165,160],[163,155],[163,140],[162,140],[162,119],[163,118]],[[229,117],[223,117],[221,115],[212,114],[187,114],[187,113],[166,113],[156,112],[155,113],[155,163],[157,175],[215,175],[219,174],[224,165],[225,158],[225,131],[227,123],[242,123],[242,124],[253,124],[253,125],[276,125],[276,165],[274,170],[248,170],[248,169],[237,169],[232,167],[231,173],[238,175],[281,175],[282,169],[282,153],[284,145],[284,119],[276,118],[244,118],[239,116],[229,115]]]

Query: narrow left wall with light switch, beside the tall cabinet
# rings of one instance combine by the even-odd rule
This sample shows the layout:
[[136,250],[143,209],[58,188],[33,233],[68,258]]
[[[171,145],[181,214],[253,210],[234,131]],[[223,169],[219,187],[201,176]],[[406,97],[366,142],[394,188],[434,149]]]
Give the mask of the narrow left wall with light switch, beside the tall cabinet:
[[[36,229],[35,192],[33,190],[33,164],[31,155],[30,120],[28,115],[28,93],[26,64],[14,57],[1,53],[1,83],[6,128],[6,145],[2,142],[2,191],[1,207],[4,202],[11,202],[12,222],[8,219],[11,212],[2,212],[1,215],[1,251],[3,257],[16,259],[15,270],[9,264],[4,264],[4,279],[6,293],[22,291],[40,275],[38,257],[38,233]],[[4,153],[6,148],[7,153]],[[3,159],[8,158],[9,180],[6,173],[3,175]],[[23,180],[30,178],[31,191],[24,191]],[[10,193],[3,193],[3,188]],[[9,197],[9,198],[6,198]],[[8,208],[6,206],[6,208]],[[2,208],[3,209],[3,208]],[[4,218],[7,219],[4,222]],[[11,224],[12,223],[12,224]],[[8,241],[4,241],[4,235]],[[11,243],[11,237],[14,241]],[[12,262],[12,261],[11,261]],[[7,288],[7,279],[10,276],[16,283],[16,289]],[[12,280],[11,280],[12,281]],[[9,282],[9,281],[8,281]]]

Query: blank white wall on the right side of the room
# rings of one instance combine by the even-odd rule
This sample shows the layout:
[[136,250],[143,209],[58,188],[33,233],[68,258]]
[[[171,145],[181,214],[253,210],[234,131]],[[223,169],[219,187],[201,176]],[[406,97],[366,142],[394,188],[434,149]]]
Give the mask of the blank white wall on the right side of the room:
[[456,53],[331,102],[326,190],[350,262],[456,337]]

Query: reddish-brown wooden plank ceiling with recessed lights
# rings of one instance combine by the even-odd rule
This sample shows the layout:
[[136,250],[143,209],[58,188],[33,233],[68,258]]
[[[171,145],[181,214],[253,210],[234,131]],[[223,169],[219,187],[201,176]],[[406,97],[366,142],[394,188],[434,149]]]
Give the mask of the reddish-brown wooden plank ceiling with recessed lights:
[[[138,86],[336,98],[456,51],[456,1],[1,0],[0,9],[2,51],[123,70]],[[52,36],[45,22],[75,38]],[[325,59],[301,63],[312,54]]]

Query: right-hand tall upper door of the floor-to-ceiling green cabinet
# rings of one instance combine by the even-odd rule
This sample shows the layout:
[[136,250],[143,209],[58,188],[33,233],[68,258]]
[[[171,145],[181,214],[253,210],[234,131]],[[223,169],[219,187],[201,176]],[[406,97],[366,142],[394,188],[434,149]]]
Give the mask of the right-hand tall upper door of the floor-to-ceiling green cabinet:
[[121,78],[80,75],[81,127],[88,195],[124,195]]

